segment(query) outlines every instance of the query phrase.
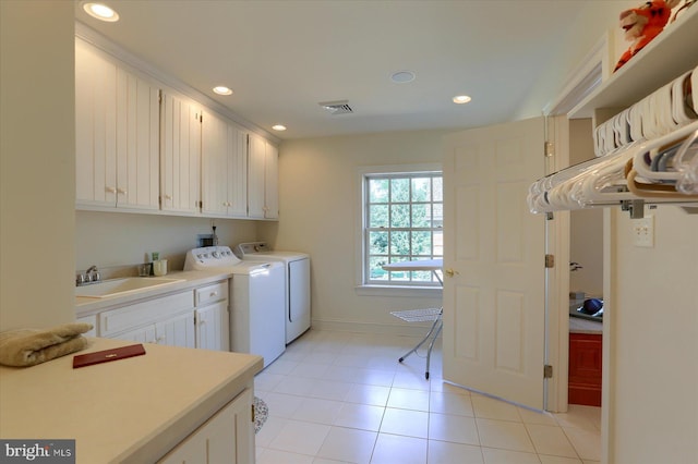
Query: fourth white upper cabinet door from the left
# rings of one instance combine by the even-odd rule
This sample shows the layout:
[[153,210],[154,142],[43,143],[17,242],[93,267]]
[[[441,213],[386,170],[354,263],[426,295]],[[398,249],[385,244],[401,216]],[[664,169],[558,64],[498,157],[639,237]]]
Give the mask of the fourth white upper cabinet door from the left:
[[206,112],[202,122],[202,212],[228,213],[228,124]]

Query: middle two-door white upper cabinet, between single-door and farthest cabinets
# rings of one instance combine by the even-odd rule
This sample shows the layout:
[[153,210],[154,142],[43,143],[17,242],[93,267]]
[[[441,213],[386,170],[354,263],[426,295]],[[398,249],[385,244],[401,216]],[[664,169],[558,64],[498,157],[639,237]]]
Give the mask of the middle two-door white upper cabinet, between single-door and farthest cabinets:
[[248,134],[206,112],[202,139],[202,212],[244,218],[248,213]]

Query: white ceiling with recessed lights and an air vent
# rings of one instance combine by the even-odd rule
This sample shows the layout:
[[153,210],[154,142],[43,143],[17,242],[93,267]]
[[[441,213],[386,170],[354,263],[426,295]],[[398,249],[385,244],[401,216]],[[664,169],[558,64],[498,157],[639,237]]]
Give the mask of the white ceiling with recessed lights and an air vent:
[[[77,1],[75,14],[260,127],[285,124],[279,138],[303,138],[508,121],[586,1],[108,0],[117,23]],[[393,83],[400,70],[417,78]],[[317,105],[332,100],[354,112]]]

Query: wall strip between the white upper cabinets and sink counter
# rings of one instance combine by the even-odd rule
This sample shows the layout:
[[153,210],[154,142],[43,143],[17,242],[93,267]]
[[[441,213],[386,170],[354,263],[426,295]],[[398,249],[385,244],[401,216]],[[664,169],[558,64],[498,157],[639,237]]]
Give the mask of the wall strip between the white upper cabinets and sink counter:
[[256,240],[255,221],[192,217],[77,211],[75,217],[76,269],[100,269],[145,262],[146,254],[160,254],[171,270],[181,270],[184,254],[196,246],[198,234],[210,234],[212,222],[220,245],[231,248]]

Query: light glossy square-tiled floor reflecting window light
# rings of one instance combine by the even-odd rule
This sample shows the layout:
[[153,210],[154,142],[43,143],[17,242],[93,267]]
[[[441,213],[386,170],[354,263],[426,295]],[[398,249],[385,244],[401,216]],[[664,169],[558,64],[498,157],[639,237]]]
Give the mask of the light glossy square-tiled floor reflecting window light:
[[311,330],[255,378],[258,464],[592,464],[599,407],[539,413],[442,379],[419,339]]

